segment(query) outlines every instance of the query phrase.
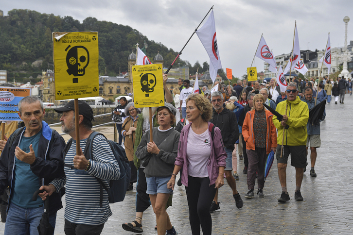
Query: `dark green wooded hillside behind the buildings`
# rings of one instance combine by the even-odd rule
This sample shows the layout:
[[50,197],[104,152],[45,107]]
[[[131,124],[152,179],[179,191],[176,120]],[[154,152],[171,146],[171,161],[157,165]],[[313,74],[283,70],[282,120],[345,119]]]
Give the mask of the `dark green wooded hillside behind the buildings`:
[[[52,32],[97,31],[99,36],[99,72],[117,76],[119,71],[127,71],[127,58],[133,50],[136,53],[136,43],[140,47],[146,41],[146,55],[153,63],[154,56],[163,56],[164,66],[169,66],[177,52],[168,49],[161,43],[148,40],[139,31],[125,25],[107,21],[99,21],[88,17],[80,21],[70,16],[60,17],[53,14],[41,14],[36,11],[14,9],[8,16],[0,17],[0,70],[8,71],[8,79],[15,77],[20,82],[22,78],[36,78],[42,70],[53,69]],[[32,66],[32,63],[42,60]],[[178,59],[176,64],[190,66],[189,62]],[[31,80],[31,82],[34,82]]]

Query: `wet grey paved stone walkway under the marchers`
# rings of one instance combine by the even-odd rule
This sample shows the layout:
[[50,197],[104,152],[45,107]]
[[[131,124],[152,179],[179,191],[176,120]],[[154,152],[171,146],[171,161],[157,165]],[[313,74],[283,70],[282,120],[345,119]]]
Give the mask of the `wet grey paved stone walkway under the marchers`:
[[[344,104],[326,104],[326,119],[321,122],[321,148],[315,170],[317,178],[310,177],[308,166],[304,173],[301,193],[304,201],[294,200],[295,169],[287,168],[287,188],[291,200],[280,204],[281,185],[276,160],[267,177],[265,198],[245,200],[246,175],[244,163],[238,160],[240,180],[237,188],[244,207],[237,209],[229,186],[219,190],[220,212],[212,213],[212,231],[215,235],[298,235],[298,234],[353,234],[353,99],[346,94]],[[101,130],[108,134],[110,130]],[[112,135],[111,135],[112,136]],[[310,152],[309,152],[310,156]],[[310,159],[310,157],[308,158]],[[310,161],[309,161],[310,162]],[[123,202],[111,204],[113,216],[106,222],[103,235],[132,235],[122,229],[122,223],[135,218],[135,185],[127,192]],[[184,186],[176,186],[173,206],[168,210],[172,224],[180,235],[190,235],[188,204]],[[64,235],[64,210],[58,212],[55,235]],[[155,215],[152,207],[143,215],[144,235],[156,235]],[[0,224],[3,233],[4,224]]]

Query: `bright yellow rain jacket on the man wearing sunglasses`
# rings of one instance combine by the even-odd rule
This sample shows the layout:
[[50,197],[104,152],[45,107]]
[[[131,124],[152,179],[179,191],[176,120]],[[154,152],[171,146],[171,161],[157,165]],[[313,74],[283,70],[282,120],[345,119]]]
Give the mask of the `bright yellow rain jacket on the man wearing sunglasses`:
[[[297,96],[295,101],[282,101],[278,103],[276,111],[282,115],[285,115],[285,107],[287,108],[287,126],[289,126],[284,131],[284,141],[283,145],[306,145],[306,138],[308,137],[308,132],[306,130],[306,123],[309,119],[309,109],[308,105],[300,101]],[[277,143],[282,144],[283,137],[283,126],[276,116],[272,118],[273,124],[278,129]]]

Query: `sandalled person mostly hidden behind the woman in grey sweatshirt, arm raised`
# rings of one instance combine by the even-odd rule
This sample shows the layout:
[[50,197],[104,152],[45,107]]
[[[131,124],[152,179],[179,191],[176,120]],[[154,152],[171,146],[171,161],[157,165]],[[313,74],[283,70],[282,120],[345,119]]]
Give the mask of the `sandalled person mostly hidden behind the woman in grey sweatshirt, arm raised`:
[[[175,107],[175,102],[173,100],[172,93],[170,92],[169,88],[167,87],[167,74],[163,74],[163,88],[164,88],[164,98],[165,102],[171,103]],[[157,122],[157,111],[158,107],[152,107],[152,123],[153,127],[158,127],[159,124]],[[145,134],[150,129],[150,112],[149,108],[143,108],[142,113],[138,115],[137,127],[136,127],[136,139],[134,144],[134,164],[137,168],[137,183],[136,183],[136,218],[131,223],[124,223],[122,225],[123,229],[133,233],[142,233],[142,215],[143,212],[150,206],[150,198],[149,195],[146,194],[147,190],[147,183],[146,177],[143,172],[144,167],[140,164],[140,159],[136,157],[136,149],[141,142],[142,135]],[[172,205],[172,198],[173,194],[170,195],[166,207]],[[172,224],[167,224],[167,229],[172,227]],[[156,227],[155,227],[156,229]]]

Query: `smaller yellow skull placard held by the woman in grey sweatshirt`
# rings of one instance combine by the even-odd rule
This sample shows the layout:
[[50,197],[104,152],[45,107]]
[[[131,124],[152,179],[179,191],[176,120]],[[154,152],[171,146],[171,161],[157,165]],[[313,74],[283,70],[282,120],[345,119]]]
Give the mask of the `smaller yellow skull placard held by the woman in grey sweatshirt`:
[[164,105],[161,64],[133,66],[132,82],[136,108]]

